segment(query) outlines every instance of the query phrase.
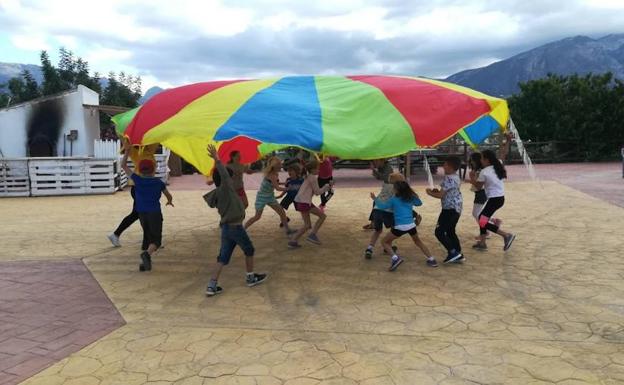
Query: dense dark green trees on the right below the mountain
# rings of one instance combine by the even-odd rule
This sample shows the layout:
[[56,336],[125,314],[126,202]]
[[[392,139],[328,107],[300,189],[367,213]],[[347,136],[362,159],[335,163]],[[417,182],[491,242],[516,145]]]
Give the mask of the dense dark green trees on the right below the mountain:
[[509,106],[521,134],[575,142],[587,160],[610,159],[623,144],[624,84],[610,73],[548,75],[520,84]]

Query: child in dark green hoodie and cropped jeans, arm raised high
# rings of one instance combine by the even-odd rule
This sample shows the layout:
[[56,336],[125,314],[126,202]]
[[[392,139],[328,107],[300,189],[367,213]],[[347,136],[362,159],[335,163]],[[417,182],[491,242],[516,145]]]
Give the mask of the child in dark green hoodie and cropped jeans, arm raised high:
[[223,289],[217,285],[223,266],[230,263],[232,253],[238,245],[245,253],[245,264],[247,268],[247,286],[256,286],[267,279],[266,274],[256,274],[254,270],[254,247],[243,228],[245,219],[245,207],[236,191],[232,171],[228,170],[219,160],[217,149],[213,145],[208,145],[208,155],[215,160],[216,169],[213,172],[213,181],[216,186],[214,190],[204,196],[210,207],[216,207],[221,216],[219,225],[221,226],[221,251],[217,257],[217,265],[210,276],[210,282],[206,288],[206,295],[212,297],[221,294]]

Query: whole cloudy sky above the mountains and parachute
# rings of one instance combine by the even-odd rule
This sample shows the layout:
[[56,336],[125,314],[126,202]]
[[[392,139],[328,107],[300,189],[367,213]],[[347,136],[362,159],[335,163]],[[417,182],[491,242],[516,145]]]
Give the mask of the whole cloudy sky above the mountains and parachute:
[[[0,0],[0,62],[60,46],[144,88],[285,74],[446,77],[574,35],[624,0]],[[55,55],[52,55],[53,59]]]

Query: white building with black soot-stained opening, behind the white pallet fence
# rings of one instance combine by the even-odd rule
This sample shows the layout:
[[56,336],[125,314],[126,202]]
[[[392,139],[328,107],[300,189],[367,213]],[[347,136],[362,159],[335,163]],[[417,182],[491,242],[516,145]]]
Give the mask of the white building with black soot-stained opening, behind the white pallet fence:
[[97,92],[77,89],[0,109],[0,157],[93,156],[100,138]]

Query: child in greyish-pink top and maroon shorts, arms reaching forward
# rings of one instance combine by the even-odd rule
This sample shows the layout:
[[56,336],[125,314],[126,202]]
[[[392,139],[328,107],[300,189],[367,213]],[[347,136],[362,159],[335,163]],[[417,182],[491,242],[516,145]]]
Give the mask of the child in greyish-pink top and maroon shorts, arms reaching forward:
[[[292,239],[288,242],[288,248],[296,249],[301,247],[299,244],[299,239],[310,229],[312,232],[306,238],[308,242],[320,245],[321,241],[318,238],[318,231],[325,222],[325,218],[327,216],[323,211],[321,211],[318,207],[312,204],[312,196],[313,195],[321,195],[331,188],[333,182],[329,182],[329,184],[319,187],[318,185],[318,172],[319,172],[319,163],[315,160],[311,161],[306,165],[306,171],[308,175],[305,177],[303,184],[299,188],[299,192],[297,196],[295,196],[295,210],[301,213],[301,217],[303,218],[304,226],[297,231],[297,233],[292,237]],[[310,214],[313,214],[318,217],[314,227],[312,227],[312,221],[310,220]]]

